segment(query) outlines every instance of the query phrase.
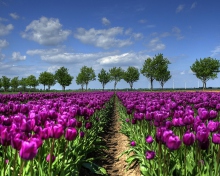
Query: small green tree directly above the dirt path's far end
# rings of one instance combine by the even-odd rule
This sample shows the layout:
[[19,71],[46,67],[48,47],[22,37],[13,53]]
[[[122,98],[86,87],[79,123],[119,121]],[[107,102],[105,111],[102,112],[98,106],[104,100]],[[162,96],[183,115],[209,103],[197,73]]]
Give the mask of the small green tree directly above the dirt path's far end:
[[121,67],[113,67],[109,70],[111,81],[115,81],[114,90],[116,89],[117,83],[123,78],[124,70]]

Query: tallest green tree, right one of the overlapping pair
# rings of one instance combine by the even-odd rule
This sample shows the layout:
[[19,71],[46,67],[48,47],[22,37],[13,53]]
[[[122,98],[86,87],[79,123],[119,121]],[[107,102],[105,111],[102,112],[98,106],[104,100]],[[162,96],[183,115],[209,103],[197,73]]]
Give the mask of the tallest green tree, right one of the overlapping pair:
[[163,57],[163,54],[158,54],[153,60],[154,75],[156,81],[158,81],[163,89],[164,84],[171,78],[170,71],[168,70],[168,64],[170,61]]

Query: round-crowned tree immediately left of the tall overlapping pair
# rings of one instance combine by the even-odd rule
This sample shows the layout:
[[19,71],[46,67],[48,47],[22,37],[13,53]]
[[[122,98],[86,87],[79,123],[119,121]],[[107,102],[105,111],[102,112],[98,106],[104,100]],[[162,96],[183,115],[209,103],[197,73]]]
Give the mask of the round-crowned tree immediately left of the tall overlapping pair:
[[134,82],[139,80],[140,73],[135,67],[128,67],[127,71],[124,72],[123,79],[130,85],[131,90]]

